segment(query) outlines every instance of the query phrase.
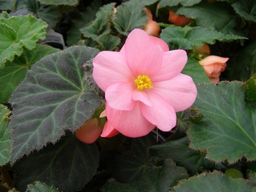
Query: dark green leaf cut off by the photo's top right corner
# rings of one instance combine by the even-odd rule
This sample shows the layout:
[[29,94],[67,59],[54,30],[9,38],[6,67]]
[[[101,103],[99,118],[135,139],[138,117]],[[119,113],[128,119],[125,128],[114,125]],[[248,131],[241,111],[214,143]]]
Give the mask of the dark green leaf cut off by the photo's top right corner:
[[242,16],[246,20],[256,22],[256,3],[254,0],[237,1],[232,4],[232,7],[238,15]]

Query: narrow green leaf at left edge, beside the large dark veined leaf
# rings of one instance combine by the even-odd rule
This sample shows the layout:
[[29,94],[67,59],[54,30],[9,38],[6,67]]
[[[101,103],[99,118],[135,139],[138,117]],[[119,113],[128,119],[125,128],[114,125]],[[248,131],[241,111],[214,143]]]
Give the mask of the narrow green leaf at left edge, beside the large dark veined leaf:
[[0,166],[10,161],[11,131],[7,128],[11,111],[0,104]]

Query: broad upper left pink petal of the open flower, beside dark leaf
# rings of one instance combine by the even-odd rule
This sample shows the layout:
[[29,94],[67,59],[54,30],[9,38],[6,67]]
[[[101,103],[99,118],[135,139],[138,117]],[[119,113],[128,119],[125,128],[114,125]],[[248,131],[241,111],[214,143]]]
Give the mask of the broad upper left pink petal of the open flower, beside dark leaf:
[[125,56],[113,51],[102,51],[93,59],[93,78],[104,91],[116,82],[134,80]]

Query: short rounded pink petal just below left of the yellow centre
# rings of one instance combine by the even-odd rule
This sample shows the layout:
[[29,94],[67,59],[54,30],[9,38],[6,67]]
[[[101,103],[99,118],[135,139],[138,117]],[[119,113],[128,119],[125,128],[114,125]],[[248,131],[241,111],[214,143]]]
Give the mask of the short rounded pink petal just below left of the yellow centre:
[[118,82],[110,85],[105,92],[106,101],[115,110],[133,110],[136,102],[131,99],[131,95],[135,87],[133,82]]

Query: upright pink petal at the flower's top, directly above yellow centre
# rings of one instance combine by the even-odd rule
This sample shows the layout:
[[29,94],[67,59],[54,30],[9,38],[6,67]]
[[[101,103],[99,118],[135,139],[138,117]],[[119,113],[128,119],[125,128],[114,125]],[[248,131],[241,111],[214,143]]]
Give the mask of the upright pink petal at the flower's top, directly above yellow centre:
[[145,31],[135,29],[130,32],[124,47],[127,64],[129,65],[131,72],[133,72],[135,76],[138,76],[135,72],[137,72],[139,64],[141,64],[141,61],[152,49],[150,37]]

